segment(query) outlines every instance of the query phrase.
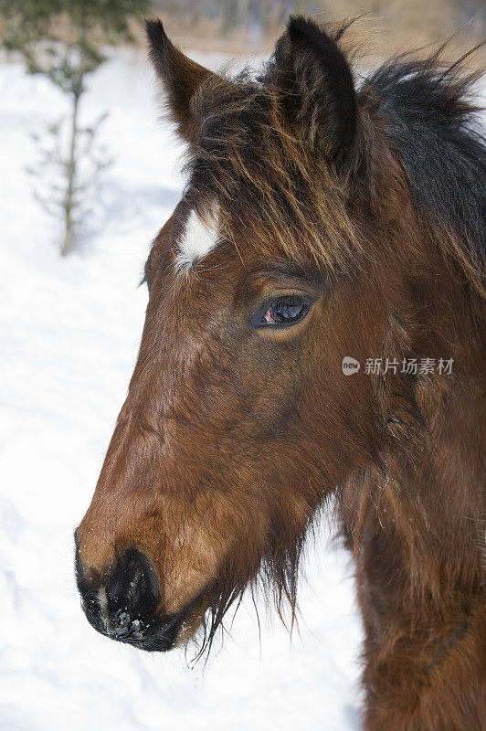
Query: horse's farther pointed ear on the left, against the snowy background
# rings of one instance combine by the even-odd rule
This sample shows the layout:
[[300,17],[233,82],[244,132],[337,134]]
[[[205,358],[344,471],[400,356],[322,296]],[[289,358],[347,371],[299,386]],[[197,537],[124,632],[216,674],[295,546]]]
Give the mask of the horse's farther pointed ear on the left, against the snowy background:
[[191,111],[191,98],[200,85],[214,74],[175,48],[160,20],[146,20],[145,31],[153,68],[163,82],[168,97],[167,106],[177,125],[177,132],[186,142],[194,143],[197,124]]

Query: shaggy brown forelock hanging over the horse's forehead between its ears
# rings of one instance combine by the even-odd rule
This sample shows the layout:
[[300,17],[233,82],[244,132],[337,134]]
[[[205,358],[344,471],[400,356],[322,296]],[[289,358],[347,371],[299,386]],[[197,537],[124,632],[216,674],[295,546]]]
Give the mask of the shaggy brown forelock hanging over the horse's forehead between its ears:
[[208,79],[186,198],[205,217],[217,201],[225,238],[261,256],[333,271],[360,248],[333,171],[285,122],[271,85]]

